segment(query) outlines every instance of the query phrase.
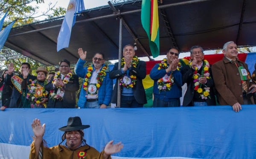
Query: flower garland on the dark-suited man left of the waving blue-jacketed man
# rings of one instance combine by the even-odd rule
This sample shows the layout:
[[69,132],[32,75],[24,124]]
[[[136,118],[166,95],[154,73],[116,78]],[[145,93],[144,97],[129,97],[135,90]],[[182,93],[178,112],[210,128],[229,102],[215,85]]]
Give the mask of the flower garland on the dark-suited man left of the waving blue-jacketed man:
[[[72,71],[69,71],[69,73],[67,73],[66,76],[64,77],[64,79],[62,80],[63,83],[67,84],[70,81],[70,79],[72,78],[72,76],[73,76]],[[61,77],[60,71],[55,73],[52,83],[54,83],[56,80],[58,80],[59,77]],[[60,93],[57,94],[57,93],[55,93],[55,90],[52,89],[52,90],[50,90],[50,98],[62,100],[62,94],[65,92],[65,90],[61,87],[57,87],[57,88],[61,89]]]

